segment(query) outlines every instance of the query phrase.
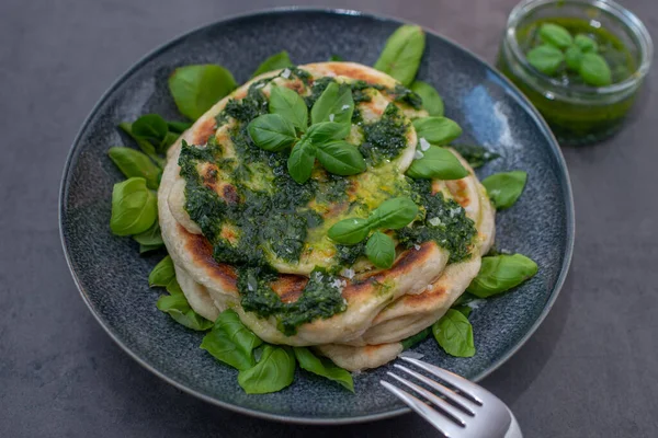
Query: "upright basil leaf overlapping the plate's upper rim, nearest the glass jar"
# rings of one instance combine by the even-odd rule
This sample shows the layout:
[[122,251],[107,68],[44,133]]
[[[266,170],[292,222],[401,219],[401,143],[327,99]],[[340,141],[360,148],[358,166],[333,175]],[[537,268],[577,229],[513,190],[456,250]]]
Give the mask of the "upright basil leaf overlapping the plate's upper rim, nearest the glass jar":
[[424,32],[420,26],[402,25],[386,41],[375,69],[409,87],[416,78],[424,51]]

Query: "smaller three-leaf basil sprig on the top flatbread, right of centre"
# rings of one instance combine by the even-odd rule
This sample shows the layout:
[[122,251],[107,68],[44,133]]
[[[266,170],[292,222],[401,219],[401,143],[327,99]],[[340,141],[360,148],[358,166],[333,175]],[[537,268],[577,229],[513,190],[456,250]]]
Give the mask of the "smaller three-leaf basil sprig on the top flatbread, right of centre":
[[365,244],[365,255],[373,265],[389,268],[395,262],[395,243],[377,230],[398,230],[418,216],[418,206],[409,198],[387,199],[371,211],[367,219],[349,218],[334,223],[328,231],[329,239],[343,245],[362,242],[375,231]]

